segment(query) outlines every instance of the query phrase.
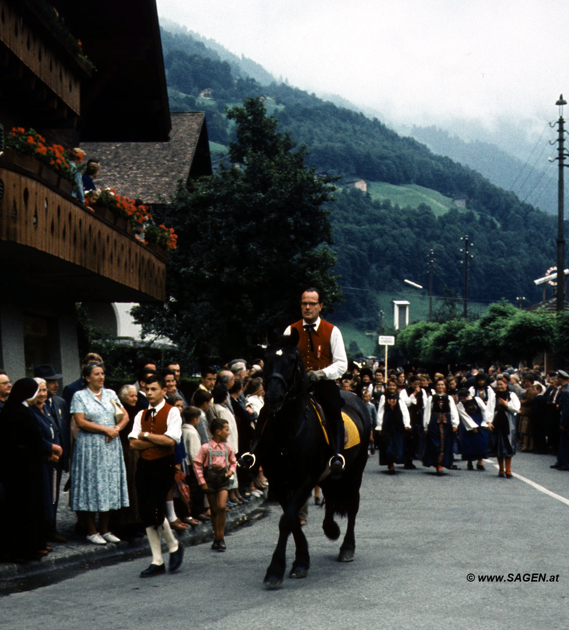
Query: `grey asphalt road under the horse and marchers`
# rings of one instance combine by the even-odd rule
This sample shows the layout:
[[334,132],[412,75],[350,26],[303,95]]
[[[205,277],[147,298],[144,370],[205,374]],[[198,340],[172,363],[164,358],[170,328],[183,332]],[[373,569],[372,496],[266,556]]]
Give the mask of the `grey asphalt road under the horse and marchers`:
[[[336,562],[340,542],[323,536],[323,512],[311,505],[308,577],[266,590],[279,519],[270,505],[267,517],[227,537],[226,553],[187,548],[174,575],[141,580],[149,561],[142,558],[4,597],[0,627],[565,630],[569,473],[551,470],[553,461],[518,454],[512,466],[548,494],[520,478],[498,479],[488,463],[485,472],[469,472],[459,462],[461,471],[442,478],[421,467],[387,476],[373,458],[353,563]],[[524,581],[532,574],[548,581]],[[504,581],[481,582],[481,575]]]

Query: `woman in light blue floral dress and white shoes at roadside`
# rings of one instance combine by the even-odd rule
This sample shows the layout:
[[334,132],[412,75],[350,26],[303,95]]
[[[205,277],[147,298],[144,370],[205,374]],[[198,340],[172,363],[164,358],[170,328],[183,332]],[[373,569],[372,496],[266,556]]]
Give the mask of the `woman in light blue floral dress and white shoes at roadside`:
[[[115,407],[117,394],[105,389],[103,364],[91,363],[83,369],[87,386],[76,392],[71,401],[71,413],[79,429],[71,463],[71,509],[83,521],[89,542],[106,544],[119,539],[108,530],[109,510],[129,505],[127,474],[118,433],[128,423],[123,416],[117,423]],[[99,530],[95,514],[99,513]]]

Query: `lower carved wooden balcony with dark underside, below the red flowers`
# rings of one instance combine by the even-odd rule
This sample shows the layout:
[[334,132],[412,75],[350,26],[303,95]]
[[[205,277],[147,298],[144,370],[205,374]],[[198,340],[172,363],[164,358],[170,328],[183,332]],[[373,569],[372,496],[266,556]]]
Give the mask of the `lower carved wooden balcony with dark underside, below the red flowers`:
[[0,168],[0,264],[13,297],[166,299],[162,256],[16,165]]

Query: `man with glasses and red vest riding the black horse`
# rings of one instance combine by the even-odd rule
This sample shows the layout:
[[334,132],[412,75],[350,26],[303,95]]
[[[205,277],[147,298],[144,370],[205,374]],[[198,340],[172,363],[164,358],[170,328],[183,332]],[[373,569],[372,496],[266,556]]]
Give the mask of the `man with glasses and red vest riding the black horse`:
[[311,287],[301,296],[302,319],[285,330],[296,328],[299,333],[298,348],[306,367],[308,378],[314,383],[314,396],[321,404],[326,420],[330,425],[334,453],[330,458],[330,472],[340,476],[345,467],[342,455],[344,444],[344,423],[342,420],[343,399],[336,385],[347,370],[348,359],[342,333],[333,324],[320,318],[322,301],[318,289]]

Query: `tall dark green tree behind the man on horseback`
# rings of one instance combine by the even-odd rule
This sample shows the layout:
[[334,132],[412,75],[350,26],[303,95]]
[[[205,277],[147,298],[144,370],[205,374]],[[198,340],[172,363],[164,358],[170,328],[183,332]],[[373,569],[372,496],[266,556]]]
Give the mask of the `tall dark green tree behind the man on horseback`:
[[231,159],[239,167],[179,186],[164,222],[176,226],[168,260],[169,299],[135,307],[143,332],[168,336],[199,360],[258,353],[267,333],[299,316],[314,285],[326,306],[340,297],[331,273],[330,179],[304,164],[260,101],[229,110],[237,123]]

